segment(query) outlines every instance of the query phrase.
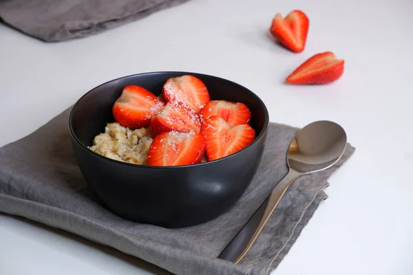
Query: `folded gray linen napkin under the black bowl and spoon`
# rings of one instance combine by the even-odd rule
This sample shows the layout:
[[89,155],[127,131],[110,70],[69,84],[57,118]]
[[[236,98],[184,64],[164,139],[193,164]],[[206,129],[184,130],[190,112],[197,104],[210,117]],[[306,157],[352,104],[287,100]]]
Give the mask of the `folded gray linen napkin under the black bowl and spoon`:
[[201,225],[167,229],[121,219],[88,192],[72,153],[69,113],[0,148],[0,211],[109,245],[175,274],[269,274],[326,199],[322,189],[328,177],[354,152],[348,144],[336,166],[297,179],[235,265],[217,257],[287,174],[286,150],[297,129],[271,123],[257,175],[231,210]]

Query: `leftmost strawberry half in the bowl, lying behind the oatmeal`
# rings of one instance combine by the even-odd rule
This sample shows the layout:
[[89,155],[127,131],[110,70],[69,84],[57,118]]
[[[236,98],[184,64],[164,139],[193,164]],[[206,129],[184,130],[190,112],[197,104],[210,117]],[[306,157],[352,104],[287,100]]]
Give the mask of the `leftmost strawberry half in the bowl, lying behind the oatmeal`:
[[131,129],[147,127],[165,103],[145,88],[126,86],[112,107],[114,119]]

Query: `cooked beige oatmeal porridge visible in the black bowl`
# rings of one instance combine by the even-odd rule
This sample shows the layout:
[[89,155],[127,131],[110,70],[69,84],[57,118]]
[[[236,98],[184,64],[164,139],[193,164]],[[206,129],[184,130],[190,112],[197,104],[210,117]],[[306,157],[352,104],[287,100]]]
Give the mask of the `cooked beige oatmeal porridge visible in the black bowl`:
[[152,141],[153,134],[149,127],[131,130],[114,122],[107,124],[105,133],[96,135],[93,146],[89,148],[120,162],[147,165]]

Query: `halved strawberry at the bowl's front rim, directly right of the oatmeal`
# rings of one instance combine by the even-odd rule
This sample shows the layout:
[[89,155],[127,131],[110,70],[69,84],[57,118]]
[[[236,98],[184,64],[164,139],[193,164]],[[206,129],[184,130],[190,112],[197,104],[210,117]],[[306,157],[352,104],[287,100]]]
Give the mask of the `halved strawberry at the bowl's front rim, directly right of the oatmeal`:
[[165,132],[153,139],[149,147],[148,163],[151,166],[198,164],[204,152],[204,137],[200,133]]

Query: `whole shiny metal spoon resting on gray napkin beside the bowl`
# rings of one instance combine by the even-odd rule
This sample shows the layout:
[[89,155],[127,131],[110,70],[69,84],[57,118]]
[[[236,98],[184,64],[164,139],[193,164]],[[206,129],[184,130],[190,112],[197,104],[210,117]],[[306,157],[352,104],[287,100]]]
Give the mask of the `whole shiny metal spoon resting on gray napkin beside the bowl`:
[[257,239],[288,186],[301,175],[334,165],[343,155],[346,144],[346,132],[335,122],[317,121],[301,129],[288,148],[288,175],[274,188],[218,258],[239,263]]

